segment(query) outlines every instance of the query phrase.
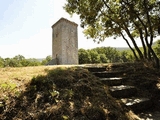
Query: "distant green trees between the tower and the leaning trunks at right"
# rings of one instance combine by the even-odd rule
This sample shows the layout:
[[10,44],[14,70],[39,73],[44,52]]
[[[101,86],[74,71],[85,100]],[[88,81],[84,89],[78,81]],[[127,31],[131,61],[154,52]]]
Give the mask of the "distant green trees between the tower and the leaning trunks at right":
[[131,50],[118,51],[112,47],[97,47],[90,50],[79,49],[78,53],[79,64],[134,61]]

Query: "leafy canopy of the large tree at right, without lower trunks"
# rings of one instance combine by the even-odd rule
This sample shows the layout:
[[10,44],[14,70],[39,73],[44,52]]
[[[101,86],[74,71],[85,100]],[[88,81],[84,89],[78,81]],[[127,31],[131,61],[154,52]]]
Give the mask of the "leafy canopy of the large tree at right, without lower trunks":
[[[127,34],[131,34],[133,38],[140,36],[137,25],[144,30],[144,24],[148,23],[148,20],[152,22],[150,23],[152,29],[157,29],[156,25],[159,25],[156,0],[147,2],[143,2],[143,0],[67,0],[64,9],[69,14],[78,14],[81,26],[85,27],[84,33],[99,41],[103,41],[109,36],[119,36],[121,33],[129,32],[128,30],[130,33]],[[150,15],[149,18],[147,18],[147,14]],[[145,27],[149,28],[150,26],[145,24]],[[157,35],[157,31],[152,32]]]

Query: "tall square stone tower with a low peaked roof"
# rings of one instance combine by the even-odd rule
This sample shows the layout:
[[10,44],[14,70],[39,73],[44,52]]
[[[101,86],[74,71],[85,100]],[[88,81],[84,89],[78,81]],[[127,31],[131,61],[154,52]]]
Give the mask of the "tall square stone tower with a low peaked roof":
[[78,64],[77,26],[65,18],[52,26],[52,64]]

